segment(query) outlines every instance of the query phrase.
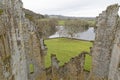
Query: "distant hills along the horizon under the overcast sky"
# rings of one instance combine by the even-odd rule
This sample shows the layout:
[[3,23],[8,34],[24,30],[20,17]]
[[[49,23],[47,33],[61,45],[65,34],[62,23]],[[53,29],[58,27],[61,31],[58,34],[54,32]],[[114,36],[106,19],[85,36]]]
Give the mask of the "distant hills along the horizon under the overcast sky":
[[42,15],[25,8],[23,8],[23,11],[25,12],[26,17],[29,18],[30,20],[43,19],[43,18],[95,20],[95,17],[70,17],[70,16],[63,16],[63,15]]

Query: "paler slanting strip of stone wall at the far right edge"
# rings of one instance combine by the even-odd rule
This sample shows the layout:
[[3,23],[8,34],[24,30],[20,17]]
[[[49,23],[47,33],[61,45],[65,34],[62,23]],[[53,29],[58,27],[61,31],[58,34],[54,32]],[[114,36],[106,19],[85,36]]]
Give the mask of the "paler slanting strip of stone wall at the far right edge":
[[117,29],[113,44],[113,50],[111,52],[111,62],[109,66],[109,80],[120,79],[120,18],[116,25]]

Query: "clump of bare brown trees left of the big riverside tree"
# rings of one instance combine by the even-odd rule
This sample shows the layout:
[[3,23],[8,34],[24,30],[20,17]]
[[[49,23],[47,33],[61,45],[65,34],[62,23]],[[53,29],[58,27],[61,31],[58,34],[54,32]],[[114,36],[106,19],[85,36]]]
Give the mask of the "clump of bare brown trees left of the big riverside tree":
[[37,21],[38,30],[44,38],[56,32],[57,21],[55,19],[43,19]]

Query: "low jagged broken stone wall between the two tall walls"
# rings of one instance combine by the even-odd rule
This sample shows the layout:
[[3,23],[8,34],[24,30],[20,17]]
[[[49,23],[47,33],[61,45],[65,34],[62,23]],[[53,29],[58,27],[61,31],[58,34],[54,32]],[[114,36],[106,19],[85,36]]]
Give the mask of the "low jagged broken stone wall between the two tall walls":
[[46,69],[47,80],[87,80],[89,72],[84,71],[85,55],[71,58],[63,66],[59,66],[59,61],[55,55],[51,56],[51,67]]

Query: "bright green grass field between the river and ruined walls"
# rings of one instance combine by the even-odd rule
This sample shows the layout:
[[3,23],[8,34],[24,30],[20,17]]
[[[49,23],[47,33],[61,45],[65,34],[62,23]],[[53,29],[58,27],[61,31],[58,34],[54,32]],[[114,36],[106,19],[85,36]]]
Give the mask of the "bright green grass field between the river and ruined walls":
[[[60,65],[68,62],[70,58],[77,56],[82,51],[89,52],[89,47],[92,46],[91,42],[68,39],[68,38],[56,38],[45,40],[45,44],[48,48],[48,53],[45,57],[45,66],[49,67],[51,64],[51,54],[56,54]],[[86,56],[85,69],[90,70],[91,68],[91,57]]]

